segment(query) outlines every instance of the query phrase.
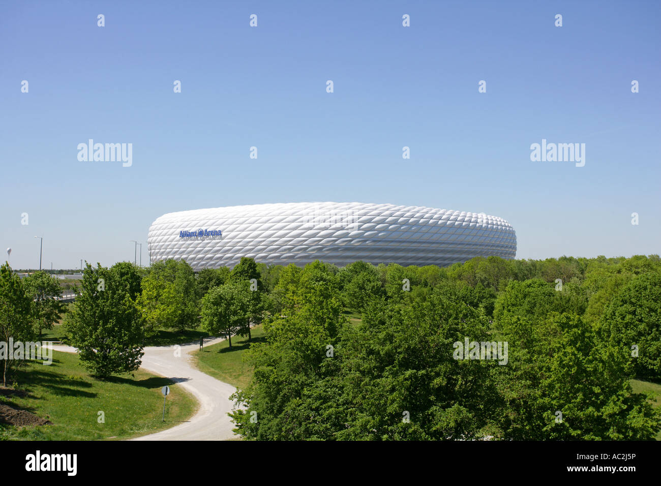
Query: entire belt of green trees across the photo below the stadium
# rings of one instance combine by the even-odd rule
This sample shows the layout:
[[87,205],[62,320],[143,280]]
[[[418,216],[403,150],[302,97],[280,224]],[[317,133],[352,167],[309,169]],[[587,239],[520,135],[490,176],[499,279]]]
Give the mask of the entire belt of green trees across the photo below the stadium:
[[[0,339],[36,339],[59,319],[46,309],[56,290],[29,282],[3,266]],[[198,273],[88,264],[64,320],[97,376],[136,369],[163,329],[231,339],[263,322],[253,380],[234,397],[245,438],[650,439],[660,412],[629,380],[661,380],[660,307],[658,255],[447,268],[244,258]]]

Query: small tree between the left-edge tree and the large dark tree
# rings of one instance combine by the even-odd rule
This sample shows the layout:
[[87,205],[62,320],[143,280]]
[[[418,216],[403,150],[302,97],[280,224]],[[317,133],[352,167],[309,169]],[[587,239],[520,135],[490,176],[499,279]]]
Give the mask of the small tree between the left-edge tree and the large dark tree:
[[65,311],[64,305],[58,300],[61,296],[59,280],[40,270],[26,276],[23,284],[32,301],[34,324],[41,337],[42,330],[53,329],[54,323],[59,321],[61,313]]

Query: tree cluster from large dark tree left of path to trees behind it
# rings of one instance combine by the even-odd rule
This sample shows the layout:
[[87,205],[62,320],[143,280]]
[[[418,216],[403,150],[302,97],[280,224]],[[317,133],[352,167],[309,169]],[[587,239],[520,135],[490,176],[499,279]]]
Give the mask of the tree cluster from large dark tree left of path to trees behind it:
[[184,333],[202,327],[211,335],[251,335],[262,321],[266,294],[252,259],[195,274],[185,261],[159,261],[149,268],[88,264],[81,295],[65,317],[67,344],[79,350],[93,374],[136,370],[142,349],[159,331]]

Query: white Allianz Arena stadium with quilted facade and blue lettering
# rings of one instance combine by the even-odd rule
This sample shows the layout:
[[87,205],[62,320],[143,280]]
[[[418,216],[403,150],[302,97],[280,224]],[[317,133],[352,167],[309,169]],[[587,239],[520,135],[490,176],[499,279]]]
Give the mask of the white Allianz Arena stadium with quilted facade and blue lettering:
[[193,270],[232,268],[241,257],[267,264],[315,260],[345,266],[446,266],[473,257],[516,256],[510,223],[484,213],[362,204],[301,202],[229,206],[164,214],[151,224],[151,262],[185,260]]

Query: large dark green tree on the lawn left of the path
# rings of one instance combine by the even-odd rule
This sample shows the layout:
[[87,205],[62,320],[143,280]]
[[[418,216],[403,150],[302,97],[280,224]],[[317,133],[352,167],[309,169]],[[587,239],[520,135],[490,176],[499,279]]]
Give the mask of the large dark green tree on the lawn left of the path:
[[139,288],[140,275],[133,264],[87,264],[66,328],[69,343],[78,348],[81,364],[92,374],[104,378],[140,366],[143,330],[135,302]]

